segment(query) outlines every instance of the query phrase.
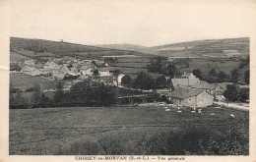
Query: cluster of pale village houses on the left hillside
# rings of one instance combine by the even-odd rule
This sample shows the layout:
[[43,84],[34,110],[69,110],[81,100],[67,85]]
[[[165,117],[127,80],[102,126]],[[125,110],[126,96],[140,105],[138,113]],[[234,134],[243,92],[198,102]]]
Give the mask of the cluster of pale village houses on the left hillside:
[[[104,68],[97,68],[100,65]],[[125,76],[119,74],[117,77],[113,77],[108,70],[107,65],[104,65],[100,60],[80,60],[71,57],[52,58],[46,63],[35,63],[34,60],[26,60],[21,73],[30,76],[40,76],[47,80],[66,80],[64,84],[65,89],[70,89],[72,85],[77,82],[85,81],[86,79],[97,76],[97,81],[101,81],[107,84],[118,85],[121,84],[121,79]]]

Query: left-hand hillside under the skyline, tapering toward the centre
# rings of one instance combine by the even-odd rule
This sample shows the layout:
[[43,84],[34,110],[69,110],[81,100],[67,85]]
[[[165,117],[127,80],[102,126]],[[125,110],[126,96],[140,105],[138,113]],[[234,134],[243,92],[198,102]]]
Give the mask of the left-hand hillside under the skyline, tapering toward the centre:
[[13,53],[16,53],[15,56],[11,56],[11,61],[20,60],[22,56],[33,59],[48,59],[49,57],[63,56],[76,56],[77,58],[100,58],[101,56],[108,55],[144,55],[140,52],[128,50],[101,48],[63,41],[58,42],[17,37],[10,38],[10,48]]

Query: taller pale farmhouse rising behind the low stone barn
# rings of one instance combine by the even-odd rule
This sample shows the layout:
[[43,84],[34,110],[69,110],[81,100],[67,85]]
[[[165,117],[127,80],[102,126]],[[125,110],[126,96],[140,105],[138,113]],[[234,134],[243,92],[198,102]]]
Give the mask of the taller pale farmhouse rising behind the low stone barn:
[[177,89],[179,86],[192,86],[199,81],[200,80],[196,78],[192,73],[184,73],[184,75],[182,75],[180,79],[171,79],[170,87],[171,90],[173,91],[174,89]]

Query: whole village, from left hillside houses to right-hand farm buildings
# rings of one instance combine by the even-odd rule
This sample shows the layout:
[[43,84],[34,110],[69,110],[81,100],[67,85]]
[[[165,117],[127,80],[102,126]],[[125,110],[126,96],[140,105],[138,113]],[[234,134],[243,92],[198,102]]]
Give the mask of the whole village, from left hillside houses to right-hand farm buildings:
[[[62,90],[70,90],[78,82],[83,82],[91,79],[92,81],[101,82],[105,85],[117,86],[118,88],[129,89],[134,91],[142,91],[142,94],[129,94],[123,95],[117,98],[117,104],[124,105],[165,105],[162,103],[184,106],[184,107],[207,107],[214,103],[221,106],[228,105],[227,100],[224,97],[224,91],[226,85],[231,85],[232,82],[215,82],[209,83],[207,81],[201,81],[193,73],[186,73],[180,75],[180,77],[169,78],[164,76],[168,82],[164,88],[154,88],[143,90],[135,87],[127,87],[125,83],[122,83],[124,77],[130,78],[127,74],[123,74],[120,71],[108,70],[107,57],[102,57],[102,60],[83,60],[76,57],[64,56],[63,58],[50,58],[45,63],[41,63],[35,60],[25,60],[22,62],[15,62],[11,64],[19,65],[22,67],[20,72],[13,69],[11,73],[22,73],[29,76],[37,76],[48,81],[65,81],[62,85]],[[109,57],[113,60],[115,57]],[[108,58],[108,60],[109,60]],[[104,60],[103,60],[104,59]],[[169,59],[170,62],[175,58]],[[163,79],[164,80],[164,79]],[[156,81],[155,81],[156,83]],[[244,85],[240,85],[244,87]],[[248,87],[248,86],[246,86]],[[41,92],[56,92],[57,87],[50,89],[43,89]],[[158,98],[164,98],[163,102],[156,102],[157,93]],[[152,99],[152,98],[155,99]],[[148,99],[147,99],[148,98]],[[30,99],[32,100],[32,99]],[[160,101],[160,100],[159,100]],[[229,104],[230,105],[230,104]],[[245,108],[248,105],[239,106]],[[233,106],[237,108],[236,106]],[[167,107],[165,107],[167,108]]]

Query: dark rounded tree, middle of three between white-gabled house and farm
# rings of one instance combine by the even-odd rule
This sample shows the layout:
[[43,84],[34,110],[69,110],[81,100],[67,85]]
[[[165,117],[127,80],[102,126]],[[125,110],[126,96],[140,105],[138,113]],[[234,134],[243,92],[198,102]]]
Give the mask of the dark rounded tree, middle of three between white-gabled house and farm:
[[138,74],[134,86],[140,89],[153,89],[155,87],[155,81],[149,75],[141,72]]

